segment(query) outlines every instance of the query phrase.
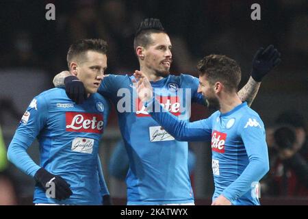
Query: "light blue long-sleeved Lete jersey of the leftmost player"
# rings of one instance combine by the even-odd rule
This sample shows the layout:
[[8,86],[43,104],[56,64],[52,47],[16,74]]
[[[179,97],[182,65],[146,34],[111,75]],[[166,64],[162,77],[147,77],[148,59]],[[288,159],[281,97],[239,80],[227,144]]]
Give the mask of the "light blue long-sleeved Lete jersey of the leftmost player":
[[[62,88],[42,92],[31,101],[10,143],[8,158],[32,177],[40,167],[60,175],[73,192],[57,201],[36,186],[34,203],[102,204],[102,195],[108,191],[100,177],[98,152],[109,111],[109,102],[100,94],[76,105]],[[39,165],[26,152],[35,138],[40,144]]]

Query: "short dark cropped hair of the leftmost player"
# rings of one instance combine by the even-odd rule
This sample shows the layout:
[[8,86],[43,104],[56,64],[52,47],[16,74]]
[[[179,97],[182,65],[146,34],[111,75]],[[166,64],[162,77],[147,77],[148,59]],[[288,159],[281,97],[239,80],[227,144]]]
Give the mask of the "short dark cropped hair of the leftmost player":
[[106,54],[107,42],[102,39],[84,39],[71,44],[66,57],[68,68],[70,68],[70,62],[72,62],[75,57],[82,56],[87,51],[96,51]]

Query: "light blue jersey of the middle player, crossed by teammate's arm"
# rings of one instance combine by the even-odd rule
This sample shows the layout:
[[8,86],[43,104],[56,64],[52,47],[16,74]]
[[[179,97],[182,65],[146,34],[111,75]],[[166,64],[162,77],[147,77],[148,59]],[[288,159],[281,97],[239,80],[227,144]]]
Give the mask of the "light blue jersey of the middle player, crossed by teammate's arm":
[[[99,93],[116,106],[129,156],[127,204],[193,203],[188,142],[175,140],[142,108],[133,79],[128,75],[109,75],[99,88]],[[151,84],[165,109],[183,120],[189,119],[191,101],[203,103],[202,95],[196,92],[198,79],[191,75],[169,75]]]

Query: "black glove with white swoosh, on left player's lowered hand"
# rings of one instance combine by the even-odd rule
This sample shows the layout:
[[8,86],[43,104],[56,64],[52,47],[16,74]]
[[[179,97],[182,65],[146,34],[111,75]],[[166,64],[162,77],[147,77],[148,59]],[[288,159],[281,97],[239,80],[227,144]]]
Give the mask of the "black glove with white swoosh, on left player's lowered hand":
[[45,191],[50,188],[50,185],[47,183],[52,181],[55,183],[55,199],[63,200],[68,198],[73,194],[70,190],[70,184],[57,175],[53,175],[44,168],[40,168],[34,175],[34,179],[38,182],[38,185],[41,186]]

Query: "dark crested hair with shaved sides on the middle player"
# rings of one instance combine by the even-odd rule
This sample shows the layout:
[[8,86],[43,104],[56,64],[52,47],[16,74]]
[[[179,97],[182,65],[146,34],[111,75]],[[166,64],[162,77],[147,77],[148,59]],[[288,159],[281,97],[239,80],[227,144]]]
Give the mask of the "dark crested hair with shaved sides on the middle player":
[[146,47],[152,42],[151,34],[166,33],[162,23],[157,18],[146,18],[142,21],[133,39],[133,49]]

